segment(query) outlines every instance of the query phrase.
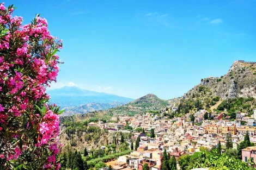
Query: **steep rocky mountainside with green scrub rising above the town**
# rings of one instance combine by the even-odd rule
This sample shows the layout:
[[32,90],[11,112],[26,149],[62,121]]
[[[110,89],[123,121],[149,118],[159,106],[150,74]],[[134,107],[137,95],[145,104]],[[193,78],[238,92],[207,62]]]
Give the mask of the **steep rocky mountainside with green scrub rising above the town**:
[[245,98],[243,102],[252,100],[246,104],[253,106],[256,99],[256,62],[238,60],[231,65],[227,74],[202,79],[199,85],[194,86],[182,97],[179,111],[213,110],[223,101],[237,98]]

